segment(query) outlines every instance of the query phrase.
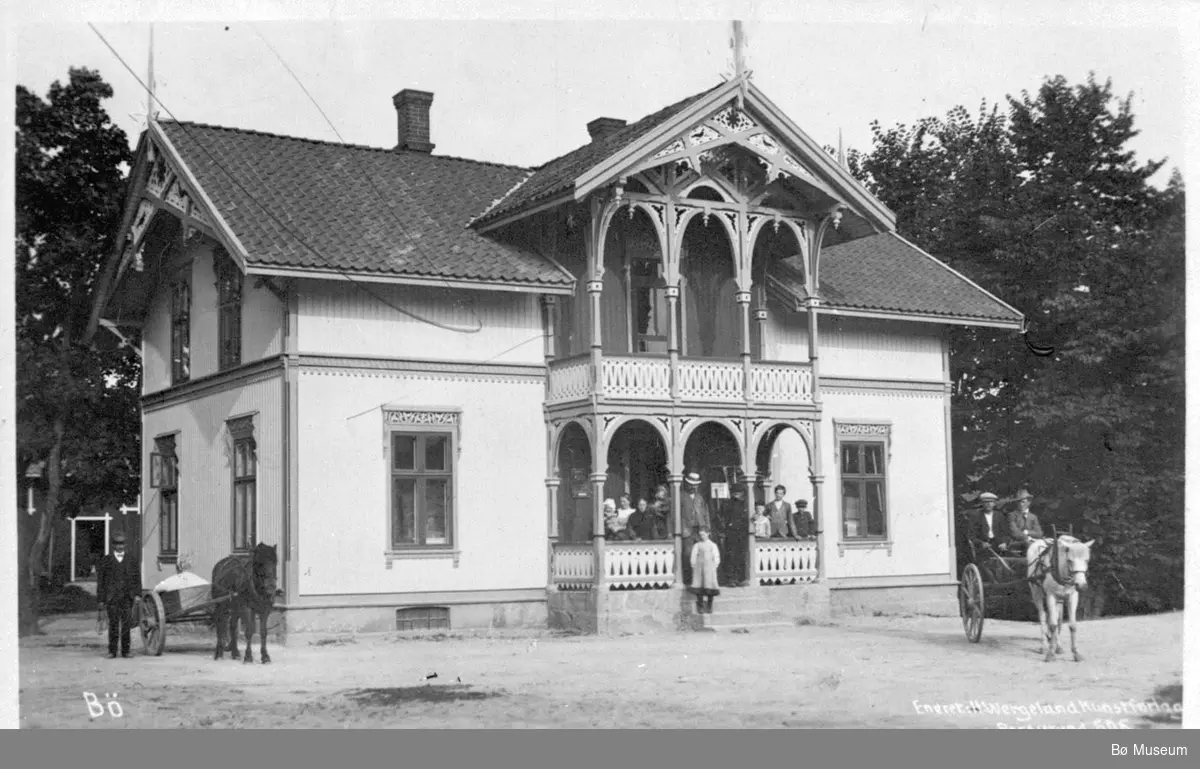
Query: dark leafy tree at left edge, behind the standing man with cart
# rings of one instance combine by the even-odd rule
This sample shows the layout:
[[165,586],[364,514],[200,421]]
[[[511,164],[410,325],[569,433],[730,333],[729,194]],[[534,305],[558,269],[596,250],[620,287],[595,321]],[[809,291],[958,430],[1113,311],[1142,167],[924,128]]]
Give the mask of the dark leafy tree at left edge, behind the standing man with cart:
[[71,68],[46,100],[17,86],[17,453],[46,461],[47,493],[22,579],[22,632],[35,632],[52,522],[85,503],[124,501],[139,476],[139,364],[91,348],[94,289],[113,246],[131,152],[97,72]]

